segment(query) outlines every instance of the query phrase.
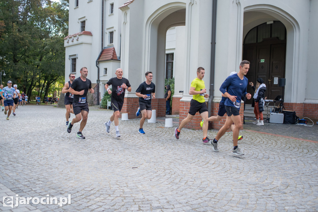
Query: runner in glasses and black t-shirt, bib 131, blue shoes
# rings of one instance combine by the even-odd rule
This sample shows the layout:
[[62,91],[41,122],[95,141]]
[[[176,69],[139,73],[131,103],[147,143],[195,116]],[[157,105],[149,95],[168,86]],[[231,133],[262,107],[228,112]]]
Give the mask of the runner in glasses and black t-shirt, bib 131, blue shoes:
[[151,118],[151,96],[155,99],[155,84],[152,81],[152,72],[146,72],[146,81],[139,85],[136,90],[136,96],[139,97],[139,107],[136,112],[136,116],[142,114],[142,118],[140,120],[140,128],[138,130],[139,133],[145,134],[143,131],[143,123],[146,118]]

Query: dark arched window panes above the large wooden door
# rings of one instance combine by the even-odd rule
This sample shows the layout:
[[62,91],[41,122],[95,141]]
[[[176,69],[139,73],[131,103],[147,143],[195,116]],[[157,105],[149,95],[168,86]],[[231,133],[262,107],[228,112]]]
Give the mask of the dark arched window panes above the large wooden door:
[[260,24],[246,34],[244,44],[259,43],[264,38],[286,40],[286,27],[280,21],[274,21],[272,24]]

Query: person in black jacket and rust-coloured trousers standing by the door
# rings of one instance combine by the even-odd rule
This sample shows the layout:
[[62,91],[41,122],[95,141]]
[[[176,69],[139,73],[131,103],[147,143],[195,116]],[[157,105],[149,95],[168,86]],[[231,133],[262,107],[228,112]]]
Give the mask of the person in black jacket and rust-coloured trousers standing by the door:
[[264,84],[264,80],[262,78],[257,79],[256,87],[254,87],[253,83],[251,82],[252,89],[255,91],[253,96],[252,107],[254,107],[254,113],[256,117],[256,121],[253,124],[257,126],[263,126],[263,111],[264,111],[264,96],[266,92],[266,85]]

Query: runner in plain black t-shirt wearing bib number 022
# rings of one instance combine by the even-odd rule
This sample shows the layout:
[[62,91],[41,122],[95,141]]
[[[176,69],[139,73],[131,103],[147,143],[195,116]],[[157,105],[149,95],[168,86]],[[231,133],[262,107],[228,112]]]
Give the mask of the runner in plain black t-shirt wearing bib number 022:
[[92,88],[91,80],[86,79],[87,77],[87,68],[83,67],[80,69],[80,77],[75,79],[68,89],[69,92],[74,94],[73,98],[73,111],[75,114],[75,118],[68,124],[67,132],[71,133],[72,127],[74,123],[80,123],[79,132],[77,133],[77,137],[81,139],[85,139],[85,136],[82,134],[82,130],[84,129],[87,122],[87,115],[89,112],[88,103],[87,103],[87,92],[94,93],[94,89]]

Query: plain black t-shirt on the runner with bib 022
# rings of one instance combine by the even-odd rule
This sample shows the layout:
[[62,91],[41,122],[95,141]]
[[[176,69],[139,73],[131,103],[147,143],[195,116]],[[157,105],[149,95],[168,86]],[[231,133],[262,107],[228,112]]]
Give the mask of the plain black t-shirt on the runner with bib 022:
[[71,88],[73,88],[74,91],[78,91],[78,92],[84,90],[83,95],[74,94],[73,103],[85,104],[87,102],[88,89],[92,88],[92,82],[91,82],[91,80],[89,80],[87,78],[86,78],[86,81],[83,81],[79,77],[73,81]]

